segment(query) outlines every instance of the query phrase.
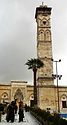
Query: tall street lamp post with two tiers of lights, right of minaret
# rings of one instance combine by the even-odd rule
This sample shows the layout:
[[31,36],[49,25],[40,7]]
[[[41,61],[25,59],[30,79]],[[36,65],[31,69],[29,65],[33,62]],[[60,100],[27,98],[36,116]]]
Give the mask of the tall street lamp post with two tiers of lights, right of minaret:
[[61,62],[61,59],[59,60],[53,60],[53,62],[56,63],[56,74],[52,74],[53,78],[57,80],[57,98],[58,98],[58,113],[60,112],[60,106],[59,106],[59,88],[58,88],[58,80],[61,80],[62,75],[58,75],[58,68],[57,68],[57,63]]

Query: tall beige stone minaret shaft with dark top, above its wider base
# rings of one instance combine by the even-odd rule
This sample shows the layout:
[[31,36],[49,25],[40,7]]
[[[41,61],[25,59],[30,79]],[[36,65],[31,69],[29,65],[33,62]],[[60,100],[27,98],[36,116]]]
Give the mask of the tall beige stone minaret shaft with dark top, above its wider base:
[[53,85],[52,39],[50,25],[51,8],[44,6],[36,8],[37,22],[37,57],[44,63],[38,70],[37,81],[39,85]]

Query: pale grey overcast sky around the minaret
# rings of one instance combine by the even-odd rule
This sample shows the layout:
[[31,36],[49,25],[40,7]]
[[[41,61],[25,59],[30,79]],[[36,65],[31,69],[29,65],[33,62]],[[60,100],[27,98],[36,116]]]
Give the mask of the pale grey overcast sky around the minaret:
[[[51,32],[54,60],[58,63],[59,85],[67,85],[67,0],[0,0],[0,83],[11,80],[33,82],[25,65],[37,53],[36,7],[52,7]],[[55,64],[54,64],[55,72]]]

